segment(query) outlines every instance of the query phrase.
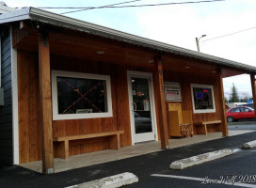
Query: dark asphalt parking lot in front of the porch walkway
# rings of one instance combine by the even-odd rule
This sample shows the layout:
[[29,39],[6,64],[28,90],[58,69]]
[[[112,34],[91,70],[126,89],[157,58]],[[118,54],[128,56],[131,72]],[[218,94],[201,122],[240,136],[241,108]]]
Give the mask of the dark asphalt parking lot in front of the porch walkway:
[[[127,187],[230,187],[225,184],[202,184],[202,179],[220,179],[220,176],[232,174],[235,176],[253,176],[256,174],[256,152],[241,151],[232,156],[222,158],[206,164],[192,166],[184,170],[170,170],[169,164],[173,161],[195,156],[217,149],[240,148],[244,143],[255,140],[256,132],[245,133],[227,138],[194,144],[177,149],[168,149],[124,159],[120,161],[96,164],[70,171],[52,174],[49,176],[24,169],[20,166],[0,168],[1,188],[11,187],[66,187],[89,180],[102,179],[123,172],[136,174],[138,182]],[[175,175],[180,178],[155,177],[158,175]],[[181,177],[200,178],[187,180]],[[255,183],[247,183],[254,185]]]

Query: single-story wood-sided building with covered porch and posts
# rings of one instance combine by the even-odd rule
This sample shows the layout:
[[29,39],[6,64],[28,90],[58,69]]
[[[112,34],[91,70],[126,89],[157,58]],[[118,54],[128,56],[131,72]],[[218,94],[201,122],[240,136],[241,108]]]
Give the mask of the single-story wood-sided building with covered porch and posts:
[[[0,160],[24,164],[171,136],[228,136],[222,78],[256,68],[38,8],[0,15]],[[1,101],[1,100],[0,100]]]

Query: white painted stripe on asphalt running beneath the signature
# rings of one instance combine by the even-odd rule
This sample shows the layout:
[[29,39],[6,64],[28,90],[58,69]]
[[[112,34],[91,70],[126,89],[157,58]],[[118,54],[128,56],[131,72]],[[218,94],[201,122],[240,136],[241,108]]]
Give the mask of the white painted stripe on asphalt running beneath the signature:
[[204,179],[201,179],[201,178],[194,178],[194,177],[185,177],[185,176],[176,176],[176,175],[164,175],[164,174],[152,174],[152,176],[153,177],[169,178],[169,179],[198,180],[198,181],[201,181],[201,184],[226,184],[226,185],[232,185],[232,186],[256,188],[255,184],[248,184],[248,183],[238,183],[238,182],[233,182],[232,183],[232,182],[225,182],[225,181],[221,181],[221,180],[212,180],[210,182],[210,179],[208,179],[207,177],[205,177]]

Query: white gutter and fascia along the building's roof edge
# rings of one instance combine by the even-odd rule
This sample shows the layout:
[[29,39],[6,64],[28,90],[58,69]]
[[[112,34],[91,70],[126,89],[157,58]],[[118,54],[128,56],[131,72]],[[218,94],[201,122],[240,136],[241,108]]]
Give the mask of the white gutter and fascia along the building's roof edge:
[[214,55],[206,55],[181,47],[173,46],[164,42],[159,42],[152,39],[141,38],[135,35],[124,33],[115,29],[110,29],[98,24],[90,24],[84,21],[73,19],[64,15],[41,10],[38,8],[23,8],[7,14],[0,15],[0,24],[16,22],[30,19],[46,24],[53,24],[60,27],[71,28],[94,35],[99,35],[108,39],[118,39],[121,41],[133,43],[143,47],[151,48],[158,51],[164,51],[176,55],[184,55],[188,57],[198,58],[201,60],[214,62],[222,66],[230,66],[233,68],[252,71],[256,73],[256,68],[253,66],[238,63],[232,60],[216,57]]

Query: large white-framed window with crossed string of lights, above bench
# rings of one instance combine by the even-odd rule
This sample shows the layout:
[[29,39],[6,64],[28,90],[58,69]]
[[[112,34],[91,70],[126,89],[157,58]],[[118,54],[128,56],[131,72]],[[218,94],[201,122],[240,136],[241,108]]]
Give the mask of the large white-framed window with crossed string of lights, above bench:
[[112,117],[110,76],[52,71],[53,118]]

